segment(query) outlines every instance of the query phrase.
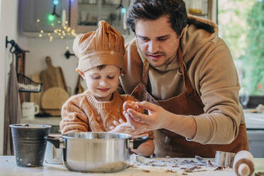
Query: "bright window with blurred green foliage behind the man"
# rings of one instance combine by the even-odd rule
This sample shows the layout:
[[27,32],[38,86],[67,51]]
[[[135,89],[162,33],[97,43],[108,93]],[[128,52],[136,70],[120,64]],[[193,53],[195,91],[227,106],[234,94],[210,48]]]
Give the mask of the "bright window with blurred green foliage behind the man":
[[264,96],[264,0],[218,1],[219,36],[231,50],[241,103]]

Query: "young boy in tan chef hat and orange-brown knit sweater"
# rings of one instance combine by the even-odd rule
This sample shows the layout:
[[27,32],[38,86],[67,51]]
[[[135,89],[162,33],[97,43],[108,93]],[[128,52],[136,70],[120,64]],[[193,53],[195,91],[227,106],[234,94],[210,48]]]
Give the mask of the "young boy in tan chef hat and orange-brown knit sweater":
[[[126,121],[123,103],[136,101],[129,95],[120,95],[116,92],[119,76],[125,70],[123,57],[126,50],[123,36],[106,21],[100,21],[97,31],[75,38],[73,50],[79,58],[76,70],[85,79],[87,90],[70,97],[63,104],[60,130],[62,134],[111,131],[113,126],[119,124],[116,121]],[[132,150],[134,153],[139,155],[153,153],[153,133],[150,131],[148,136],[150,141]]]

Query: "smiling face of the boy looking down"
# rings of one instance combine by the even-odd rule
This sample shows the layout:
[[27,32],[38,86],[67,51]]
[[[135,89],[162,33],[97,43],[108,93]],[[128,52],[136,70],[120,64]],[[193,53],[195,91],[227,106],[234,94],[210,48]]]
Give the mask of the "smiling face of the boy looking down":
[[84,72],[89,91],[99,101],[110,101],[113,92],[119,86],[120,68],[116,65],[106,65],[102,70],[97,67]]

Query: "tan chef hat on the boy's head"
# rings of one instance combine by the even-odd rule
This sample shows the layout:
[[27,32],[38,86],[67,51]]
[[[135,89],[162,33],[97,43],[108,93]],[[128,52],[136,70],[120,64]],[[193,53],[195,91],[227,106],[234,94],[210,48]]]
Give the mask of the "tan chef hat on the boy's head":
[[73,51],[79,58],[77,71],[85,72],[99,65],[116,65],[125,70],[124,39],[106,21],[100,21],[97,31],[80,34],[75,38]]

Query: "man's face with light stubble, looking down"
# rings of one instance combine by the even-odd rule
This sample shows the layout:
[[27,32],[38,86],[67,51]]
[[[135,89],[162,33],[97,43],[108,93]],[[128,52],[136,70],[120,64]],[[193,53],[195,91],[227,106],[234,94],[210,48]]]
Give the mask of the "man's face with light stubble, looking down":
[[136,21],[135,33],[141,52],[153,67],[165,65],[177,54],[180,38],[170,27],[167,16]]

